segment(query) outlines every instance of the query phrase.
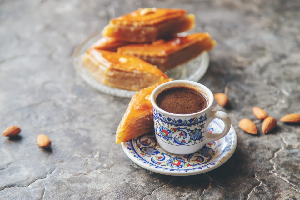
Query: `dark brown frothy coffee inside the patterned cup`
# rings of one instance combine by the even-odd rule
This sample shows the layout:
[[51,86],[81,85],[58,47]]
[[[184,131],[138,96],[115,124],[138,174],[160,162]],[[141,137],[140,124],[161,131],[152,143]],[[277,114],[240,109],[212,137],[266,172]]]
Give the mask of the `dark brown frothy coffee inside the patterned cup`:
[[193,88],[173,87],[160,92],[156,104],[169,113],[191,114],[205,109],[208,100],[205,94]]

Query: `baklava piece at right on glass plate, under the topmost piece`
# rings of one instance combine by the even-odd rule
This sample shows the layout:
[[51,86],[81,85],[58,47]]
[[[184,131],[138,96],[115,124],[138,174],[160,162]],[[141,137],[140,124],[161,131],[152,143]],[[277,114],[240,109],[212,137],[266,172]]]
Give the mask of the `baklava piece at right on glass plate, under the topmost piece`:
[[210,51],[215,44],[208,33],[194,33],[151,44],[130,44],[119,47],[118,53],[136,56],[166,71]]

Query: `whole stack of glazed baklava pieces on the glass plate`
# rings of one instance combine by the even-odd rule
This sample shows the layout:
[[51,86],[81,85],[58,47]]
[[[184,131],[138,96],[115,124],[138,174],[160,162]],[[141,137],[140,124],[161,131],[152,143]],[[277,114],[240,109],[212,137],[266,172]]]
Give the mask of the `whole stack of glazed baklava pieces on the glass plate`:
[[208,33],[177,35],[194,27],[195,16],[186,10],[141,8],[110,20],[82,56],[83,66],[105,85],[139,91],[214,47]]

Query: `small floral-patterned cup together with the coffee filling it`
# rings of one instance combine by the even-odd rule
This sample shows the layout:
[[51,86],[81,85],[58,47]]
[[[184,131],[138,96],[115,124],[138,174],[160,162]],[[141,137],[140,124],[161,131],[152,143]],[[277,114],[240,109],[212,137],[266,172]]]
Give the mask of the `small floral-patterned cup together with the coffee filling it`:
[[[198,109],[194,113],[172,113],[177,108],[184,112],[186,104],[194,102],[194,96],[190,96],[185,88],[196,91],[195,95],[198,95],[197,92],[203,95],[206,98],[206,105],[204,103],[203,109]],[[166,95],[164,96],[164,94]],[[158,96],[162,96],[159,103],[164,106],[164,109],[158,106]],[[171,102],[168,102],[168,98]],[[194,153],[206,143],[223,138],[231,128],[231,120],[227,113],[212,110],[213,94],[210,89],[200,83],[185,80],[163,83],[153,90],[150,100],[153,105],[157,142],[163,150],[169,153],[182,155]],[[209,133],[207,126],[216,118],[224,122],[224,130],[219,134]]]

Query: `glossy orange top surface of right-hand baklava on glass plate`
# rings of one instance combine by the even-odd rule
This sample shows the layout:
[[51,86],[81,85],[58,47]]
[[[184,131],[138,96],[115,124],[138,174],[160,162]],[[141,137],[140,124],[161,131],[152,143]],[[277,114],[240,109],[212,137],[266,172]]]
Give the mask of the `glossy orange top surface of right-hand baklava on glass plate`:
[[211,50],[216,41],[211,39],[208,33],[194,33],[182,37],[174,37],[169,40],[157,40],[151,44],[130,44],[118,48],[120,54],[130,54],[139,56],[158,56],[167,57],[172,53],[176,53],[195,42],[203,41],[207,47],[207,51]]

